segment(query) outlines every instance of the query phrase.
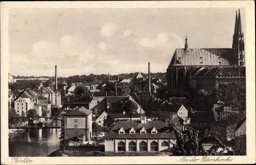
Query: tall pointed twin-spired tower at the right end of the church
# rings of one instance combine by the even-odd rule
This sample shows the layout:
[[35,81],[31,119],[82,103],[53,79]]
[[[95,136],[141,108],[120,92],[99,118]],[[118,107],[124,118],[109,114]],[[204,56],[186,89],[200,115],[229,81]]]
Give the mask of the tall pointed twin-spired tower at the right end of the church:
[[245,51],[244,51],[244,33],[241,23],[240,9],[236,12],[236,22],[234,23],[234,34],[232,42],[234,64],[245,66]]

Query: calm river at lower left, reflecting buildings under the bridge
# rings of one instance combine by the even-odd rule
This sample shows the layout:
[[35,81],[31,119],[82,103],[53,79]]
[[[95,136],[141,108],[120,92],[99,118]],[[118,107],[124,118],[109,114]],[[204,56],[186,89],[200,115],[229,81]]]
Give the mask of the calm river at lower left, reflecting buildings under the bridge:
[[47,156],[59,147],[60,129],[33,128],[9,138],[9,156]]

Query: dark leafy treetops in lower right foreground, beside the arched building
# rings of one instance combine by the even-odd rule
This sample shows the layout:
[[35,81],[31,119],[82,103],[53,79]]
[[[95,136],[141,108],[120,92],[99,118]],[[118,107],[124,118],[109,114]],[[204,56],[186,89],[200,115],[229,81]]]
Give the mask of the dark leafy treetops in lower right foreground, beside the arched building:
[[[206,136],[199,141],[198,132],[193,128],[180,131],[175,124],[170,122],[167,131],[173,132],[176,136],[173,156],[221,156],[224,151],[228,154],[233,153],[215,136]],[[203,147],[203,144],[207,143],[214,145],[207,150]],[[233,154],[236,154],[236,150],[233,151]]]

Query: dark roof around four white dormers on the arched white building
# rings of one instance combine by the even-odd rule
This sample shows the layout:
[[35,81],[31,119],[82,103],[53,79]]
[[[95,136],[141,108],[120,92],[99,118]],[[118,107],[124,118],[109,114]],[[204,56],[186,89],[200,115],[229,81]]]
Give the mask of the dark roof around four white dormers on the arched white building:
[[[163,130],[167,126],[167,123],[162,122],[162,121],[148,121],[146,124],[141,124],[139,122],[135,121],[121,121],[118,122],[114,128],[106,134],[103,138],[104,139],[110,139],[110,138],[176,138],[174,133],[161,133],[161,130]],[[129,131],[131,128],[134,128],[136,131],[135,134],[130,134]],[[145,128],[146,133],[141,134],[140,130],[141,128]],[[151,130],[153,128],[156,128],[158,131],[156,134],[152,134]],[[123,128],[125,131],[124,134],[119,134],[118,131],[120,128]]]

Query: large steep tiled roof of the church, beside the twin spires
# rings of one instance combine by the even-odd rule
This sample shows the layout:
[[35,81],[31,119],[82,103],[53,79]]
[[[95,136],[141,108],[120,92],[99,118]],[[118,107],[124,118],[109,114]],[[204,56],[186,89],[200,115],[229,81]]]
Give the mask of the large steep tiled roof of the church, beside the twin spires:
[[176,49],[169,66],[232,65],[232,49]]

